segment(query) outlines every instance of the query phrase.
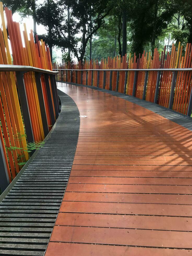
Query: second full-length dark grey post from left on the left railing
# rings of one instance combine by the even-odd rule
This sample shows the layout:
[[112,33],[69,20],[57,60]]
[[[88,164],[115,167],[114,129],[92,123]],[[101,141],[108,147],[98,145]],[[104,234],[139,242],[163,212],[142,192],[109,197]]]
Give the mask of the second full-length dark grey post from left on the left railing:
[[47,136],[49,133],[49,126],[48,126],[48,122],[47,122],[45,102],[44,102],[43,90],[42,90],[42,84],[41,84],[41,73],[35,72],[35,80],[36,80],[36,84],[37,84],[37,93],[38,93],[38,98],[39,98],[39,106],[40,106],[40,110],[41,110],[43,130],[44,130],[45,136]]

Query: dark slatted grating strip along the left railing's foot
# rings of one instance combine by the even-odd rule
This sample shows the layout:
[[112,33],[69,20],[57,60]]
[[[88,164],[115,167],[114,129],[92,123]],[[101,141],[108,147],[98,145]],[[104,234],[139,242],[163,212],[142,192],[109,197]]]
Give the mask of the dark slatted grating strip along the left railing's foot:
[[0,255],[44,255],[71,171],[79,110],[59,91],[60,116],[51,135],[0,203]]

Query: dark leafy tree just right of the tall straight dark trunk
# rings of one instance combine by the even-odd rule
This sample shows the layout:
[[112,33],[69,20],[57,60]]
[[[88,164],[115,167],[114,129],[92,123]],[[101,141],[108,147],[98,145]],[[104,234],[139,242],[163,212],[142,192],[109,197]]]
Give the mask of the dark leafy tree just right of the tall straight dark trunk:
[[150,42],[153,54],[156,39],[177,12],[176,5],[170,0],[133,0],[131,9],[132,51],[138,55]]

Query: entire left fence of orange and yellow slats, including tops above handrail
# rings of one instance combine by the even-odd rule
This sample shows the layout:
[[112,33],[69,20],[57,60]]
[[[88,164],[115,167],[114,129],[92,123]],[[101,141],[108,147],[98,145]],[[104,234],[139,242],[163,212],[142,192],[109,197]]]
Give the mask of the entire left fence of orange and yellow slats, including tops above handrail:
[[0,2],[0,193],[59,115],[49,47]]

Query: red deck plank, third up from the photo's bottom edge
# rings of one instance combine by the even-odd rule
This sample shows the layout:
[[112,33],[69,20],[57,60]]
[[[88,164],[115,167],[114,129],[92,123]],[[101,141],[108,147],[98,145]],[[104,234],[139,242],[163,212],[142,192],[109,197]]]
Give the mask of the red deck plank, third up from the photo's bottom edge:
[[192,231],[192,219],[182,217],[82,214],[60,212],[55,225],[102,228]]

